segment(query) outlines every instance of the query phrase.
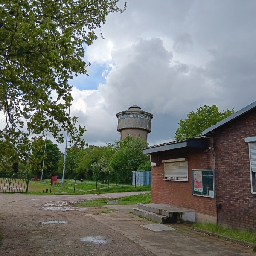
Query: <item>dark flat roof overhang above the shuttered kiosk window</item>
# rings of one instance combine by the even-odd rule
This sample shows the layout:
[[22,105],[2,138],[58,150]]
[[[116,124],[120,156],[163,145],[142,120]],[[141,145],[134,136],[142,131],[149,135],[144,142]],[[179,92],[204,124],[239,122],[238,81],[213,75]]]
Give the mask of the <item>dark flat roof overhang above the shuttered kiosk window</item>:
[[196,137],[184,140],[175,140],[172,142],[154,145],[151,147],[143,148],[143,154],[160,154],[164,151],[173,151],[175,149],[181,148],[198,148],[207,149],[208,148],[208,138],[207,137]]

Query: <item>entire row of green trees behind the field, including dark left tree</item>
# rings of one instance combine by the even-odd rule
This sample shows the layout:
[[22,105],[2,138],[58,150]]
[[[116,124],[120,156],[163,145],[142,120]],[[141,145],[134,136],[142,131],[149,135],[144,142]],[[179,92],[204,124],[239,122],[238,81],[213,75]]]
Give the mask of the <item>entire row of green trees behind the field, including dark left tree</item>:
[[[142,137],[127,137],[122,142],[116,140],[114,144],[105,146],[73,146],[67,149],[64,178],[131,183],[132,171],[151,170],[149,157],[142,151],[147,145]],[[44,146],[45,140],[41,138],[32,143],[29,161],[27,165],[18,164],[19,172],[30,172],[40,178],[43,169],[43,178],[50,178],[52,175],[61,178],[64,154],[51,140],[46,141],[45,154]],[[13,166],[9,166],[9,170],[12,169]],[[3,168],[0,166],[1,171]]]

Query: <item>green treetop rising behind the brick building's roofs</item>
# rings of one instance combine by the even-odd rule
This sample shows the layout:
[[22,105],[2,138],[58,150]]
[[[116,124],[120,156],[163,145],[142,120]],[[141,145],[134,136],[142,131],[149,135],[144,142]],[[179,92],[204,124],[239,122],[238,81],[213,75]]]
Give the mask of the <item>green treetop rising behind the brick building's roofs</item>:
[[202,131],[235,113],[235,108],[221,112],[216,105],[204,105],[196,110],[196,112],[191,111],[187,119],[180,120],[180,127],[175,132],[175,140],[201,136]]

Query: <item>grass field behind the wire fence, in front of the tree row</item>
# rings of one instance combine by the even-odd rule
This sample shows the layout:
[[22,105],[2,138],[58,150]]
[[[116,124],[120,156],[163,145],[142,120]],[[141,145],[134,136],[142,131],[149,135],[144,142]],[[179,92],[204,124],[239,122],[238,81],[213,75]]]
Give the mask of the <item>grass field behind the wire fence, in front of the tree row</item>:
[[[40,181],[29,181],[28,194],[43,194],[43,191],[48,189],[48,193],[51,189],[51,194],[74,194],[74,180],[64,180],[64,187],[60,186],[61,180],[58,180],[57,185],[52,185],[50,180]],[[76,180],[76,189],[75,194],[95,194],[95,193],[114,193],[114,192],[130,192],[130,191],[151,191],[151,186],[137,186],[136,188],[133,185],[128,184],[100,184],[97,183],[96,191],[96,182],[95,181],[84,181],[79,182]]]

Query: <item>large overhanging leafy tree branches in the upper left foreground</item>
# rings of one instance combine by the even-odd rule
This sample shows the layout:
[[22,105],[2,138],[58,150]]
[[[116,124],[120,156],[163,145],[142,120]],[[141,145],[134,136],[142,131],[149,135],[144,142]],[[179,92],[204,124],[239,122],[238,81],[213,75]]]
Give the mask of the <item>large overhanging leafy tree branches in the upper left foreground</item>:
[[68,81],[86,73],[84,46],[97,38],[97,28],[101,33],[109,13],[123,12],[117,2],[0,2],[0,115],[5,116],[0,140],[7,145],[7,159],[10,154],[12,161],[26,159],[31,141],[45,130],[59,143],[64,131],[81,142],[85,129],[76,128],[77,118],[67,114],[72,102]]

